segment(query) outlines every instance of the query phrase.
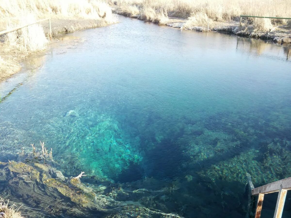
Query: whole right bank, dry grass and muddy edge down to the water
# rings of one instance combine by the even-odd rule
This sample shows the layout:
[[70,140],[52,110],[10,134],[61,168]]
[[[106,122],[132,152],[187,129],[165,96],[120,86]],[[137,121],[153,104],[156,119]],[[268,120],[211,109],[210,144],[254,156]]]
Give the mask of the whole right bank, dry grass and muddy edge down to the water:
[[[291,8],[287,1],[270,1],[268,7],[264,1],[228,1],[190,2],[175,1],[114,1],[116,13],[127,17],[153,22],[180,29],[195,31],[227,32],[240,36],[256,37],[273,42],[291,43],[291,20],[246,18],[239,26],[239,15],[291,17],[281,10]],[[257,9],[257,10],[256,10]]]

